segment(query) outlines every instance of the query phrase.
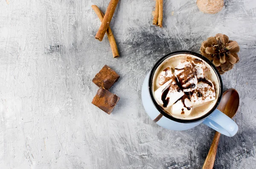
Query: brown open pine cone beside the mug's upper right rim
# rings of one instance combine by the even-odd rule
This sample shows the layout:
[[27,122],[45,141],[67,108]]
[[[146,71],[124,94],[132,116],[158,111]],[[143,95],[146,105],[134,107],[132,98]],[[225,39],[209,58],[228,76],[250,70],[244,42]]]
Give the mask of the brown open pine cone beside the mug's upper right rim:
[[220,74],[232,69],[234,64],[239,62],[237,54],[239,51],[238,43],[229,40],[225,34],[216,34],[215,37],[208,37],[200,48],[201,54],[212,61]]

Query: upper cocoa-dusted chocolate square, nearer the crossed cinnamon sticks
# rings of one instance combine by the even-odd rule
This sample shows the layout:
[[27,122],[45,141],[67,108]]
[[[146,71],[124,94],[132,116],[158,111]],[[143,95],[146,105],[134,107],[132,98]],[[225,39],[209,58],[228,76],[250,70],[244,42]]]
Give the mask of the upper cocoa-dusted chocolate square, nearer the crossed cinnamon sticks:
[[97,86],[104,88],[104,89],[110,89],[111,86],[119,79],[119,75],[113,71],[108,65],[105,65],[99,73],[95,75],[93,78],[93,83],[95,83]]

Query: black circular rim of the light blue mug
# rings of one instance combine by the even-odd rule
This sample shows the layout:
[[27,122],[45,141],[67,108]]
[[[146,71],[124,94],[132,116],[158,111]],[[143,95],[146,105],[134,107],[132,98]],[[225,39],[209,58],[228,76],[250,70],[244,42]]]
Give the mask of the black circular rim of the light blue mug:
[[[215,105],[212,107],[212,109],[207,112],[205,115],[201,116],[201,117],[198,117],[198,118],[195,118],[195,119],[189,119],[189,120],[184,120],[184,119],[179,119],[179,118],[175,118],[173,117],[172,115],[169,115],[158,103],[157,101],[154,99],[154,95],[153,95],[153,92],[152,92],[152,82],[153,82],[153,76],[154,76],[154,72],[156,71],[156,69],[158,68],[158,66],[160,66],[160,64],[166,60],[168,57],[170,56],[173,56],[173,55],[177,55],[177,54],[191,54],[193,56],[196,56],[196,57],[199,57],[200,59],[204,60],[206,63],[208,63],[212,69],[214,70],[215,74],[217,75],[218,77],[218,81],[219,81],[219,87],[220,87],[220,91],[219,91],[219,95],[218,95],[218,100],[217,102],[215,103]],[[222,97],[222,94],[223,94],[223,83],[222,83],[222,80],[221,80],[221,75],[219,74],[217,68],[214,66],[214,64],[209,60],[207,59],[206,57],[204,57],[203,55],[201,54],[198,54],[196,52],[191,52],[191,51],[175,51],[175,52],[171,52],[169,54],[166,54],[165,56],[163,56],[162,58],[160,58],[160,60],[157,61],[157,63],[153,66],[153,68],[151,69],[151,72],[149,74],[149,78],[148,78],[148,90],[149,90],[149,95],[150,95],[150,98],[154,104],[154,106],[156,107],[156,109],[162,114],[164,115],[166,118],[169,118],[170,120],[173,120],[173,121],[176,121],[178,123],[196,123],[198,121],[201,121],[201,120],[204,120],[206,119],[207,117],[209,117],[209,115],[211,115],[215,109],[217,109],[218,107],[218,104],[220,103],[221,101],[221,97]]]

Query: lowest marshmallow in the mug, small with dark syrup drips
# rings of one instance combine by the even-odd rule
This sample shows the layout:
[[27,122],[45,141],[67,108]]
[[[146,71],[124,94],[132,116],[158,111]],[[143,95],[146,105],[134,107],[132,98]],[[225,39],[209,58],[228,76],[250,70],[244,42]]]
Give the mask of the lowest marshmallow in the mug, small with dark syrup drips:
[[192,103],[186,95],[183,95],[171,108],[172,115],[188,117],[192,112]]

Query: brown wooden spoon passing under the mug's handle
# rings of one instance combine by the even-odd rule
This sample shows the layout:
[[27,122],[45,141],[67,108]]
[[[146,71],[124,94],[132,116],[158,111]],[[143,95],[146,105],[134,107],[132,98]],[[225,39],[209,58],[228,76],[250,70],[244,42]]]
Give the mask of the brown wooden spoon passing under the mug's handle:
[[[239,107],[239,94],[236,89],[228,89],[222,95],[221,103],[218,105],[218,108],[221,112],[227,115],[230,118],[233,118],[236,115],[236,112]],[[204,166],[202,169],[212,169],[218,150],[218,142],[220,140],[221,133],[216,132],[212,140],[212,145],[209,149],[207,158],[204,161]]]

